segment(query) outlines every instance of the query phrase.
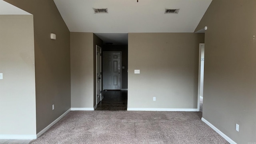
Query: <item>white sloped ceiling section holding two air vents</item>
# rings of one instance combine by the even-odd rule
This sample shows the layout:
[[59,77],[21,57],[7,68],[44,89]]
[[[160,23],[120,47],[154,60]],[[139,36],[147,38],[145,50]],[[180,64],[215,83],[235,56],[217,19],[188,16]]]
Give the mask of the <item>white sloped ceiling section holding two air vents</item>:
[[[54,0],[70,32],[194,32],[212,0]],[[93,8],[108,8],[94,14]],[[164,14],[165,9],[180,9]]]

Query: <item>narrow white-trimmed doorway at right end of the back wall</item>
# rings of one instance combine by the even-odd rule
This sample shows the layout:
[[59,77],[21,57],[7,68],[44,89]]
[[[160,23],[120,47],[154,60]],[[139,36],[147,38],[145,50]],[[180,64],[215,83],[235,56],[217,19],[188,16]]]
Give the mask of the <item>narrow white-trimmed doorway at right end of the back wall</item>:
[[204,99],[204,44],[199,44],[198,111],[203,112]]

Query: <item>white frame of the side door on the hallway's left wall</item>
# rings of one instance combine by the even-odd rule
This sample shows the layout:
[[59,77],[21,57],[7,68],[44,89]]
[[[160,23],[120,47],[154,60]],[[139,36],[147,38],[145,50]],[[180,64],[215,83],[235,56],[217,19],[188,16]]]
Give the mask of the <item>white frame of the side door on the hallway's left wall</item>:
[[100,46],[98,46],[98,45],[96,45],[96,106],[98,105],[98,96],[97,96],[97,94],[98,94],[98,76],[97,76],[97,72],[98,72],[98,48],[100,48],[100,101],[104,98],[103,96],[102,96],[102,48],[100,47]]

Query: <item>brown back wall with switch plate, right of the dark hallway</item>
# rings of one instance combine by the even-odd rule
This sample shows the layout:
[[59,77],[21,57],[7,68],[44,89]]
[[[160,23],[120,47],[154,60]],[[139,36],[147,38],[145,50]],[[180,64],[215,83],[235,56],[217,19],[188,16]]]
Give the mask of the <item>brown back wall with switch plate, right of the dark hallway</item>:
[[196,109],[199,43],[204,34],[129,33],[128,109]]

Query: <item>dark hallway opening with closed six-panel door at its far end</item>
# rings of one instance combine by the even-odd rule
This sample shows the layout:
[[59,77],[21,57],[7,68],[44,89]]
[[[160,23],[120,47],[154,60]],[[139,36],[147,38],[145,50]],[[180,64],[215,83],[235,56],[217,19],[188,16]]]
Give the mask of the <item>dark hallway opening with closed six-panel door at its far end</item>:
[[102,46],[102,99],[95,110],[127,110],[128,45]]

